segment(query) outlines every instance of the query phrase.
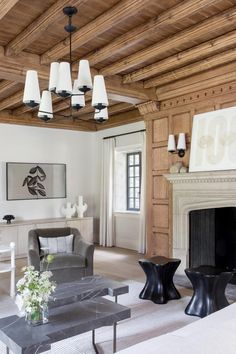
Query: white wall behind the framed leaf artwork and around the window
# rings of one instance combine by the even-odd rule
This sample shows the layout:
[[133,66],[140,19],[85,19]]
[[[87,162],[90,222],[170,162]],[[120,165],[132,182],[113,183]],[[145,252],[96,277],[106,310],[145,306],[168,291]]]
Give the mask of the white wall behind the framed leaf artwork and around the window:
[[[66,201],[75,202],[78,195],[83,195],[88,204],[86,215],[94,217],[94,236],[98,240],[102,139],[141,129],[145,129],[144,122],[96,133],[0,124],[0,222],[5,214],[13,214],[18,220],[60,217],[61,206]],[[131,135],[120,137],[118,145],[122,148],[131,142],[137,142],[137,135],[133,138]],[[6,201],[6,162],[65,163],[67,198]],[[118,238],[120,235],[118,243],[122,247],[124,230],[130,229],[130,223],[134,222],[131,227],[134,243],[130,247],[136,249],[137,218],[124,215],[123,226],[120,224],[121,218],[117,223],[120,230],[117,229]],[[127,236],[130,237],[130,234]]]

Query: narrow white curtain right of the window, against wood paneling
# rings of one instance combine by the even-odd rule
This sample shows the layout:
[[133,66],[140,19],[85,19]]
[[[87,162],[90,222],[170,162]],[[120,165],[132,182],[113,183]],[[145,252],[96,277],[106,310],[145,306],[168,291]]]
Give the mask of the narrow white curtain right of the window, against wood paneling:
[[139,253],[146,252],[146,132],[140,132],[142,171],[140,193]]

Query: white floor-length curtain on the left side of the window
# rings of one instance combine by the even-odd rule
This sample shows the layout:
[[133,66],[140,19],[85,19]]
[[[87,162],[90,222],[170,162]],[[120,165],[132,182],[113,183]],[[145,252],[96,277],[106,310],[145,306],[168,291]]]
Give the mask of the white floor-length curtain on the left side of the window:
[[99,244],[100,246],[112,247],[114,245],[113,204],[115,139],[104,139],[102,143]]

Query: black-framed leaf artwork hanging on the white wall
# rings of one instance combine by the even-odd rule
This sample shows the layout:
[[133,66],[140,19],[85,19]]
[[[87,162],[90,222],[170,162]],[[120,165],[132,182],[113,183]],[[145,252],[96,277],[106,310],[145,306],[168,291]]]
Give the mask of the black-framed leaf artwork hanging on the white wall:
[[66,198],[66,165],[6,163],[6,199]]

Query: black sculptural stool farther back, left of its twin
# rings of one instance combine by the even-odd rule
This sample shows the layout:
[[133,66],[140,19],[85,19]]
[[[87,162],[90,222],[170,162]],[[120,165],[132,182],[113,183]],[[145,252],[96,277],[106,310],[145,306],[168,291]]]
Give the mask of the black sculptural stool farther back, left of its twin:
[[146,274],[146,284],[139,298],[151,300],[156,304],[166,304],[168,300],[181,296],[173,283],[173,276],[180,264],[180,259],[152,257],[140,259],[139,264]]

